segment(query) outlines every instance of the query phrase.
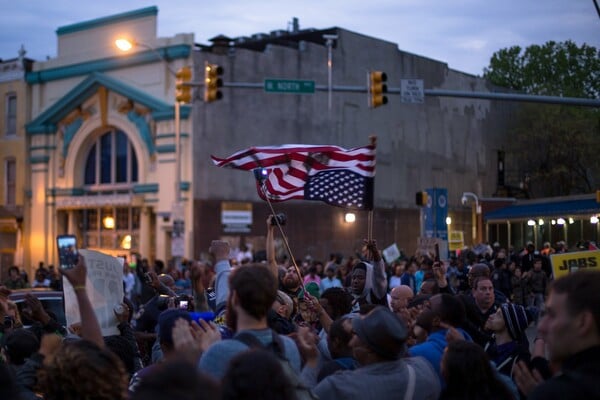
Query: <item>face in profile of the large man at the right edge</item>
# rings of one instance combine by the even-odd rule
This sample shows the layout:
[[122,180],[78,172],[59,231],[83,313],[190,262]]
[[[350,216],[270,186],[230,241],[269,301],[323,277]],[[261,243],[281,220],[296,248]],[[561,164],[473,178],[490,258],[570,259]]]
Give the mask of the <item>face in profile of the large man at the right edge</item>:
[[567,294],[550,292],[546,300],[546,312],[538,323],[538,335],[546,342],[551,361],[561,362],[574,353],[572,344],[577,315],[567,309]]

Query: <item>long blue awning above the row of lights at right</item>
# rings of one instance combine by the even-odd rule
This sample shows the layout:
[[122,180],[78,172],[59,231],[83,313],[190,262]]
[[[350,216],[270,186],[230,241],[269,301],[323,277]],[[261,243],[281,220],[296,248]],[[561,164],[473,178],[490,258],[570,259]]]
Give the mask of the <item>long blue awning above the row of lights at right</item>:
[[542,217],[589,217],[600,214],[600,203],[594,196],[544,200],[523,200],[484,215],[486,222],[505,222]]

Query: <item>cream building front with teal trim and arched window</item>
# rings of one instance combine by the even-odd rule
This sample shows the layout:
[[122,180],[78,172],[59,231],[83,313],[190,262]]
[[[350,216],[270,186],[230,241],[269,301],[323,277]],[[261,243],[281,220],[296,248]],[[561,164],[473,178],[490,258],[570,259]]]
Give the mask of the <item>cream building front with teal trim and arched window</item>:
[[[181,106],[178,129],[174,99],[175,71],[191,63],[194,41],[158,38],[157,12],[60,27],[57,57],[27,74],[33,260],[56,263],[60,234],[113,255],[166,260],[173,248],[190,252],[189,235],[177,237],[178,247],[172,240],[173,220],[192,220],[190,108]],[[134,47],[123,53],[118,38]]]

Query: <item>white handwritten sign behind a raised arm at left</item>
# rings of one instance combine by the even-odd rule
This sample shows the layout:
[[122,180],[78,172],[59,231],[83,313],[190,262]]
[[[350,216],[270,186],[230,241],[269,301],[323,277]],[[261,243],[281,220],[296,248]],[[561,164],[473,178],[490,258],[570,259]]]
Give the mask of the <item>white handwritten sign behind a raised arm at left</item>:
[[[123,261],[93,250],[79,250],[87,266],[86,292],[102,330],[102,336],[118,335],[114,307],[123,301]],[[75,291],[63,278],[67,326],[81,322]]]

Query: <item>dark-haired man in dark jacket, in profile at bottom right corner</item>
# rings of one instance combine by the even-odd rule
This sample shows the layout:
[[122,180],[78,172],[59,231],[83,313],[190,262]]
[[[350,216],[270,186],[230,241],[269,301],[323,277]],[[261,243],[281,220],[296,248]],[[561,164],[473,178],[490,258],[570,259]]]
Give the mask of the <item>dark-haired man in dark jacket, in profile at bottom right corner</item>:
[[[542,381],[524,363],[516,381],[530,400],[600,398],[600,272],[578,271],[555,280],[538,323],[550,361],[560,366]],[[528,382],[534,381],[537,386]]]

